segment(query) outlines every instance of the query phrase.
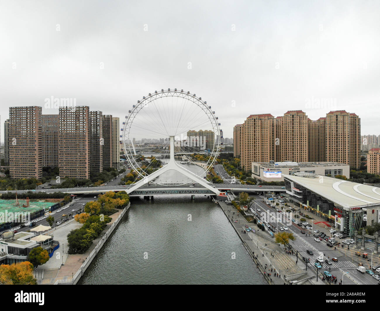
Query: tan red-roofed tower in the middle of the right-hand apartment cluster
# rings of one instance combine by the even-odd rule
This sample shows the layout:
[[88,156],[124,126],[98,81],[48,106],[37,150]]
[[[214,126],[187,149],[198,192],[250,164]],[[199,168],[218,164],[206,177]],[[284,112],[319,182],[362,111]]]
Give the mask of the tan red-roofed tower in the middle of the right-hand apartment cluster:
[[280,149],[282,161],[307,162],[309,149],[307,116],[303,111],[287,111],[283,115],[280,135]]

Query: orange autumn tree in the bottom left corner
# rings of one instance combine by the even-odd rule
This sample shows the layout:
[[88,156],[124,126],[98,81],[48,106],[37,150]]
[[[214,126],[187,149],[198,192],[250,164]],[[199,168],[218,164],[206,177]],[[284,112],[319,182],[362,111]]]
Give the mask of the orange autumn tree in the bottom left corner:
[[33,264],[24,261],[11,265],[0,265],[0,284],[36,285],[33,278]]

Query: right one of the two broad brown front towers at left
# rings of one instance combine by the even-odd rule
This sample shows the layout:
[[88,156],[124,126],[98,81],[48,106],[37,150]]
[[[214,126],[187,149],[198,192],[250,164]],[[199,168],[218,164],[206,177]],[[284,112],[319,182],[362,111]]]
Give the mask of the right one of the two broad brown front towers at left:
[[59,108],[59,174],[61,178],[90,177],[88,106]]

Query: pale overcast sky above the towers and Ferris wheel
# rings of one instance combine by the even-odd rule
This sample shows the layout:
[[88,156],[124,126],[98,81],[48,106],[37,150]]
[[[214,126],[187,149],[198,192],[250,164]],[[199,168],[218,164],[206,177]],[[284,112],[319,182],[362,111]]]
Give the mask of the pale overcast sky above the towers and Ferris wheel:
[[[344,109],[380,134],[379,1],[2,1],[0,116],[75,98],[124,119],[154,90],[250,114]],[[321,107],[318,106],[321,103]],[[315,103],[315,104],[314,104]],[[123,120],[120,120],[123,121]]]

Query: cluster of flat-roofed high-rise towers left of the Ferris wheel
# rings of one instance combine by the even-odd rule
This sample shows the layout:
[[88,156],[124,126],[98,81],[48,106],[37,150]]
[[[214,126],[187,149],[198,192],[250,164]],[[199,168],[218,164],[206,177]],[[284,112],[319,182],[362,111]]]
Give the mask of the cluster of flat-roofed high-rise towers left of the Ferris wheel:
[[38,106],[10,107],[4,138],[11,178],[41,179],[43,167],[59,167],[61,179],[88,179],[119,168],[119,118],[88,106],[60,107],[55,115]]

